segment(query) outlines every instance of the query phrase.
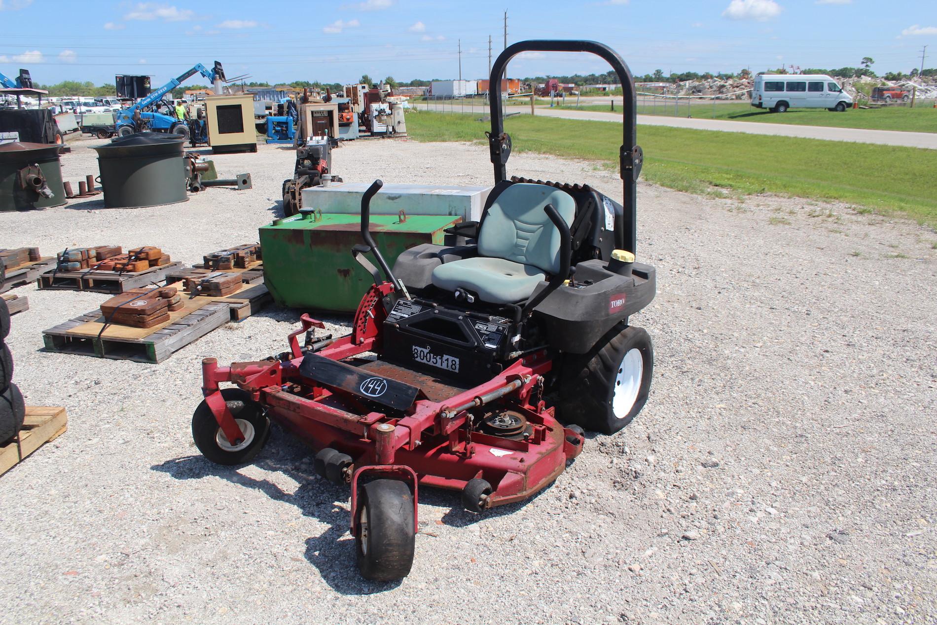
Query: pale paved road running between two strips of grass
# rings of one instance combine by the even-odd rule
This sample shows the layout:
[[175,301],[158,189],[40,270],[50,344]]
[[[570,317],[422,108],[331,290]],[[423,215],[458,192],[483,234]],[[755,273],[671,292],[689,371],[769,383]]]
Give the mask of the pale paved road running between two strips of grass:
[[[421,103],[418,107],[425,110]],[[430,108],[441,112],[463,112],[458,104],[431,104]],[[486,113],[487,109],[479,106],[466,107],[464,112]],[[529,114],[529,107],[509,107],[508,112]],[[543,117],[562,117],[564,119],[585,119],[600,122],[620,122],[621,114],[598,111],[570,111],[537,107],[538,115]],[[831,113],[832,114],[832,113]],[[849,114],[846,112],[844,114]],[[828,126],[792,126],[787,124],[761,124],[758,122],[730,122],[721,119],[695,119],[687,117],[667,117],[664,115],[638,115],[638,124],[645,126],[673,126],[696,130],[720,130],[721,132],[747,132],[753,135],[775,135],[779,137],[803,137],[805,139],[823,139],[826,141],[854,141],[859,143],[877,143],[880,145],[903,145],[906,147],[937,150],[937,133],[900,132],[898,130],[866,130],[862,128],[833,128]]]

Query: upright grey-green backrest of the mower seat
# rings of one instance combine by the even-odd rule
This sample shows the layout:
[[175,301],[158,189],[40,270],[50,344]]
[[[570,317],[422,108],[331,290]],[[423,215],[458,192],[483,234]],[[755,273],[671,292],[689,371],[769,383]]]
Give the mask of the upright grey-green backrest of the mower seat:
[[559,271],[559,231],[543,212],[553,204],[567,225],[576,202],[554,186],[515,183],[501,191],[484,215],[478,236],[481,256],[533,265],[548,274]]

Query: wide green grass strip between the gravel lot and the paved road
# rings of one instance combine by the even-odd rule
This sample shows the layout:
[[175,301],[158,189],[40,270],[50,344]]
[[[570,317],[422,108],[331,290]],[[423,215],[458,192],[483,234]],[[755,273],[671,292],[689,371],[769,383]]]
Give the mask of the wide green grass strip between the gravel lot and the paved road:
[[[417,141],[486,143],[483,132],[490,126],[478,117],[411,112],[407,130]],[[505,126],[515,151],[617,166],[617,124],[518,115]],[[859,213],[900,212],[937,224],[937,150],[666,126],[640,126],[638,142],[645,153],[642,175],[658,185],[722,197],[776,193],[843,201]]]

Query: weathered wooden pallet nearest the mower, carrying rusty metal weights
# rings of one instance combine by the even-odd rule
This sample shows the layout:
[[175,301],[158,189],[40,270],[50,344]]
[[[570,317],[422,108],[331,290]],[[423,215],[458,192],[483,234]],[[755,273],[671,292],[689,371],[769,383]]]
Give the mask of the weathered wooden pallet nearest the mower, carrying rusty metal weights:
[[171,312],[168,322],[153,328],[109,325],[103,332],[104,318],[94,310],[43,331],[42,340],[49,351],[161,363],[228,321],[246,319],[271,299],[263,285],[245,285],[229,297],[200,295],[184,300],[182,310]]

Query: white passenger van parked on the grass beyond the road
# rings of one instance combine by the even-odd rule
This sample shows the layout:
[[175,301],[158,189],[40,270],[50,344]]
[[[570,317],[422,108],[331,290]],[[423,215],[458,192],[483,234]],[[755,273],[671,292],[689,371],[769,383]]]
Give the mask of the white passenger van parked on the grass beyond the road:
[[788,109],[845,111],[853,97],[825,74],[760,74],[751,90],[751,106],[785,112]]

